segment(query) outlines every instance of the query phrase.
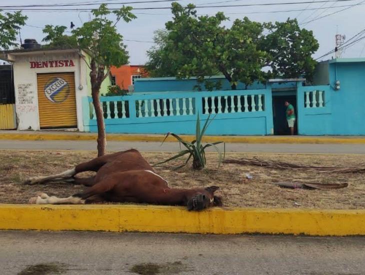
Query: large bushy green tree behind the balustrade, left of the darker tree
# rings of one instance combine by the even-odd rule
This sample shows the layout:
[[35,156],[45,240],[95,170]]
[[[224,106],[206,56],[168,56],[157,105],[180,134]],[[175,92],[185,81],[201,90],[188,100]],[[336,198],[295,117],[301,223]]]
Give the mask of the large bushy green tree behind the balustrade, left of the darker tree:
[[[263,26],[245,17],[235,20],[230,29],[225,28],[222,23],[228,18],[222,12],[197,16],[194,7],[172,3],[173,19],[165,24],[167,32],[157,36],[162,39],[157,39],[157,46],[148,52],[152,74],[196,76],[199,82],[206,81],[204,76],[223,74],[232,89],[238,81],[251,84],[263,79],[261,67],[267,56],[256,47]],[[205,86],[218,87],[211,82]]]

